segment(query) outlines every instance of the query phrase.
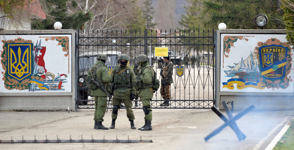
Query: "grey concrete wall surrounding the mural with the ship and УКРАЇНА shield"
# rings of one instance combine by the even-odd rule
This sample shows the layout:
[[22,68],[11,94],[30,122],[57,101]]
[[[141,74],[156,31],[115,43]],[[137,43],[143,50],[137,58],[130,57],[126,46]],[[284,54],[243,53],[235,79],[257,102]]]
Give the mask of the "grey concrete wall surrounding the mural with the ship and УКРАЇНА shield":
[[[289,110],[294,109],[294,93],[255,93],[255,92],[220,92],[220,67],[222,66],[220,55],[223,50],[220,35],[222,33],[243,33],[243,34],[285,34],[285,30],[218,30],[217,50],[216,50],[216,105],[222,109],[221,102],[234,101],[234,109],[241,110],[251,103],[255,105],[255,110]],[[291,82],[290,86],[294,86]],[[230,104],[228,104],[230,106]]]

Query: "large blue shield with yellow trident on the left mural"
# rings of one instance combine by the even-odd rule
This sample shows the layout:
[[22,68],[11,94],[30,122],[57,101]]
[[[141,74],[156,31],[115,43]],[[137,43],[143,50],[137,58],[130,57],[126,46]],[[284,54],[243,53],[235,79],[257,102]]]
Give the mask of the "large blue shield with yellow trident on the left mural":
[[19,81],[32,73],[32,43],[8,44],[8,74]]

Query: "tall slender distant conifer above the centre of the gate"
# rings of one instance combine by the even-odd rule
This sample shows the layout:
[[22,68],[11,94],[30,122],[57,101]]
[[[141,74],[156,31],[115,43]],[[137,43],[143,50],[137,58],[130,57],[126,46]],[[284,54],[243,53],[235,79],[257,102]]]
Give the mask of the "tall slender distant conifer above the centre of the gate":
[[152,7],[152,0],[144,1],[144,8],[142,10],[142,16],[146,21],[145,26],[147,29],[154,28],[157,23],[153,23],[153,7]]

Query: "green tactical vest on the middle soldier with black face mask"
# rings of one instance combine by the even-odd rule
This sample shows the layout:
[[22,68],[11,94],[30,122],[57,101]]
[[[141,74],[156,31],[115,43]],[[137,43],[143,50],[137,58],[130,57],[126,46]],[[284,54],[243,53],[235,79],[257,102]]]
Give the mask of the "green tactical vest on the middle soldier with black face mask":
[[131,69],[128,68],[125,71],[119,73],[116,72],[114,75],[114,85],[115,88],[126,87],[131,88]]

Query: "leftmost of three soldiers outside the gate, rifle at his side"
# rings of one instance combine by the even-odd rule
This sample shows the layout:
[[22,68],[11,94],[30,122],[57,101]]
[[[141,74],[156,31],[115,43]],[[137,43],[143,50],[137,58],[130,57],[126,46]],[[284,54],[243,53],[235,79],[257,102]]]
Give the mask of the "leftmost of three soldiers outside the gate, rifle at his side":
[[91,88],[91,96],[94,96],[95,101],[95,112],[94,112],[94,129],[105,129],[108,130],[107,127],[102,125],[103,117],[107,107],[107,93],[102,91],[100,88],[97,88],[93,83],[89,83],[89,81],[93,78],[95,79],[101,86],[106,88],[106,91],[110,91],[110,87],[108,87],[108,82],[111,81],[108,69],[105,65],[106,55],[98,54],[97,62],[94,64],[88,72],[87,75],[87,86]]

